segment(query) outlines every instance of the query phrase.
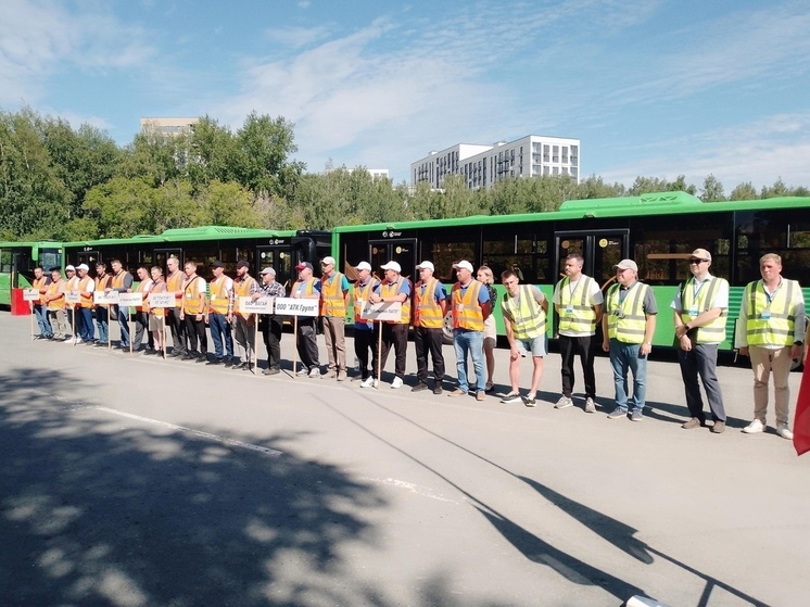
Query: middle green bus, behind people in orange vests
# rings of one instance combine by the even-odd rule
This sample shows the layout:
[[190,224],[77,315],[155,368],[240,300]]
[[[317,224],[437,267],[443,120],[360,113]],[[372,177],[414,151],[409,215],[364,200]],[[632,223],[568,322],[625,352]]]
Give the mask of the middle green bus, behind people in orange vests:
[[138,266],[166,267],[166,260],[175,256],[180,267],[186,262],[198,264],[198,274],[210,276],[211,263],[225,263],[231,276],[238,261],[251,263],[251,274],[258,276],[262,268],[271,266],[276,280],[289,288],[298,278],[295,265],[309,262],[320,273],[320,258],[329,255],[331,235],[313,230],[268,230],[229,226],[201,226],[168,229],[156,236],[109,238],[64,244],[65,263],[87,264],[94,276],[96,263],[119,260],[135,274]]

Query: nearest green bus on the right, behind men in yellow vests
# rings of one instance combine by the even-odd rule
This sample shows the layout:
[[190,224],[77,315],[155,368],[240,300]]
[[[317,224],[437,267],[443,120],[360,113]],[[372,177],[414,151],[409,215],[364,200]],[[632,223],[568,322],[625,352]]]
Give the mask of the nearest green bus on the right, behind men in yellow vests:
[[[743,289],[760,278],[764,253],[782,256],[785,276],[799,280],[810,300],[810,198],[703,202],[686,192],[662,192],[570,200],[548,213],[339,227],[332,238],[332,256],[350,277],[362,261],[381,274],[380,265],[393,260],[416,280],[415,266],[427,260],[448,288],[456,280],[453,263],[467,260],[476,268],[490,266],[496,281],[504,269],[514,268],[522,282],[539,286],[549,299],[570,253],[583,255],[583,271],[603,290],[615,279],[615,264],[632,258],[658,302],[655,344],[669,346],[674,334],[670,303],[678,284],[691,276],[686,260],[698,248],[711,252],[711,273],[731,284],[721,349],[733,347]],[[495,311],[503,336],[499,306]],[[553,334],[554,323],[548,325]],[[445,336],[450,327],[445,319]]]

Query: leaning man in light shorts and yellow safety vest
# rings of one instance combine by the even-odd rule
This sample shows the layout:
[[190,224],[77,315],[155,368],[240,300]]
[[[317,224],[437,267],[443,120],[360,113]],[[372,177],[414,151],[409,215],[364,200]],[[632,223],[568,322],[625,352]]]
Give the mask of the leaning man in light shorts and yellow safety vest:
[[533,407],[537,397],[537,388],[543,377],[543,356],[546,355],[546,314],[548,300],[531,284],[520,284],[518,276],[510,269],[501,275],[501,282],[506,287],[506,294],[501,300],[504,314],[506,339],[509,341],[509,380],[511,392],[501,402],[505,404],[521,401],[518,382],[520,380],[520,359],[532,353],[532,387],[522,399],[527,407]]

